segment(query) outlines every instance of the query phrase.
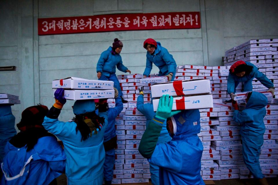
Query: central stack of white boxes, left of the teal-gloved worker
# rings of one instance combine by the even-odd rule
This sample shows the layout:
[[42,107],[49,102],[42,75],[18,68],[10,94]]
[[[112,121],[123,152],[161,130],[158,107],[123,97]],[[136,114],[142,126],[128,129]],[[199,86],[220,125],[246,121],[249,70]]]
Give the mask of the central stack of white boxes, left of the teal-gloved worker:
[[[138,151],[147,120],[136,109],[137,97],[139,96],[138,87],[143,87],[144,103],[150,103],[151,84],[167,82],[167,77],[156,77],[153,74],[145,79],[142,79],[141,74],[118,75],[117,77],[123,92],[122,97],[128,103],[123,103],[124,109],[116,119],[118,147],[115,149],[117,155],[112,184],[149,182],[149,178],[151,178],[149,162]],[[115,106],[114,101],[114,99],[107,101],[109,107]]]

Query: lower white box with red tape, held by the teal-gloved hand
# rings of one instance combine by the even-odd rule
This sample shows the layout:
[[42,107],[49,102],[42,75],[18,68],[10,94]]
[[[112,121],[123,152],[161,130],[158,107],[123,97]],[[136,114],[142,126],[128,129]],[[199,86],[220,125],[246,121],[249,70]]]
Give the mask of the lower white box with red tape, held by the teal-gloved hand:
[[[159,99],[153,99],[153,110],[157,111]],[[211,94],[199,96],[182,96],[173,98],[172,110],[213,108]]]

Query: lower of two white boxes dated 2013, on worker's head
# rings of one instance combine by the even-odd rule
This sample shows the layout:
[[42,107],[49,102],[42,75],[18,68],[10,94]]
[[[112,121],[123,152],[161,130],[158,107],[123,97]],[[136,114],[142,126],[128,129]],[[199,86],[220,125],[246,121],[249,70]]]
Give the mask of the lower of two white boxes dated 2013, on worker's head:
[[[53,96],[56,89],[53,89]],[[65,90],[65,99],[70,100],[82,100],[82,99],[101,99],[101,98],[113,98],[115,96],[115,90]]]

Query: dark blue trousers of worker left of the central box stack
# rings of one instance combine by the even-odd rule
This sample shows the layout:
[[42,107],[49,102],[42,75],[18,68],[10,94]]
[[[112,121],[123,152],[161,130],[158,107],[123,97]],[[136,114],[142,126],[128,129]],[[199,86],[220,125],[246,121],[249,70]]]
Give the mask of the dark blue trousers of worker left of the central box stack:
[[104,180],[109,181],[113,179],[115,163],[115,149],[105,151],[105,161],[103,164]]

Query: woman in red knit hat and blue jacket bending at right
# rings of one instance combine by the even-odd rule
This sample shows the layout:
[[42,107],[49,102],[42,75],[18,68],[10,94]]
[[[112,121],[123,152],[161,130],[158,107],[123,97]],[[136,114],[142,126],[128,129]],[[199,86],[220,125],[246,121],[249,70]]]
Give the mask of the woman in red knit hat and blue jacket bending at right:
[[272,96],[274,95],[275,88],[273,83],[254,64],[239,60],[231,66],[229,71],[227,92],[232,99],[237,96],[234,93],[239,82],[244,82],[244,92],[252,91],[252,80],[254,77],[268,88],[267,92],[271,92]]

